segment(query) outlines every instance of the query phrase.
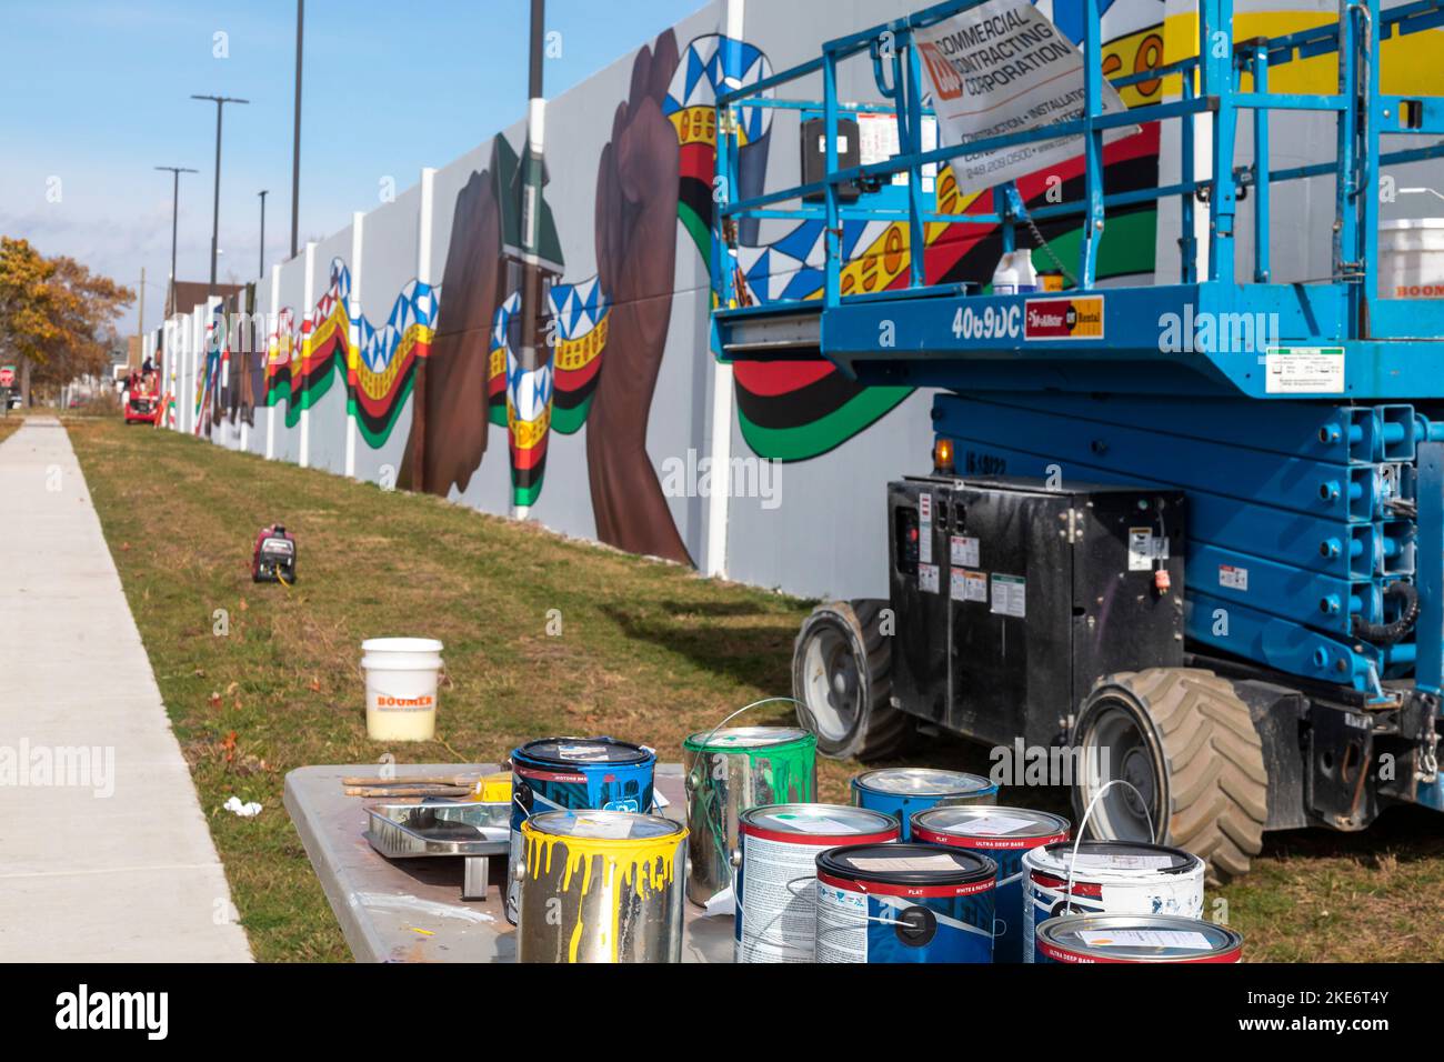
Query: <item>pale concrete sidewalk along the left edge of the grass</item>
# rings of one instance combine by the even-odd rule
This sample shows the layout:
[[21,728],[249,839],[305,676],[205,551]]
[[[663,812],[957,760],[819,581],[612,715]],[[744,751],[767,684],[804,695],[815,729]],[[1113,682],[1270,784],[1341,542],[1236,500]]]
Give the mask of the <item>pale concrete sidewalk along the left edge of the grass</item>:
[[55,419],[0,444],[0,961],[248,961]]

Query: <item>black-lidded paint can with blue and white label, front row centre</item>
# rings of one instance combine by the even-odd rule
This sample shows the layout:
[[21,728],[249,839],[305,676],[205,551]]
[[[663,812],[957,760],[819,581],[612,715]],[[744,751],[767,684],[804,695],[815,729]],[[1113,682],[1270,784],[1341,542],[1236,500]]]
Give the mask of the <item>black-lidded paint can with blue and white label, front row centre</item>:
[[817,962],[992,962],[998,864],[930,844],[817,855]]

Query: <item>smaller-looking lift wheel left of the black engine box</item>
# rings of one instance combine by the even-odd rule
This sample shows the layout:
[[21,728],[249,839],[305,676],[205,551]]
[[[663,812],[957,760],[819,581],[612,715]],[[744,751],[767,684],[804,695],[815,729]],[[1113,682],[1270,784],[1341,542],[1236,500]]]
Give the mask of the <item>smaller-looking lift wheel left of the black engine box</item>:
[[[835,760],[875,760],[894,756],[913,735],[913,718],[892,707],[891,636],[879,630],[879,613],[887,601],[859,598],[817,605],[803,620],[793,643],[793,696],[807,705],[797,709],[799,721],[817,735],[817,751]],[[829,695],[827,705],[814,704],[823,682],[823,665],[810,650],[832,643],[851,656],[851,679],[845,691]],[[832,686],[832,683],[826,683]],[[819,717],[822,717],[819,720]],[[826,722],[835,721],[829,727]]]

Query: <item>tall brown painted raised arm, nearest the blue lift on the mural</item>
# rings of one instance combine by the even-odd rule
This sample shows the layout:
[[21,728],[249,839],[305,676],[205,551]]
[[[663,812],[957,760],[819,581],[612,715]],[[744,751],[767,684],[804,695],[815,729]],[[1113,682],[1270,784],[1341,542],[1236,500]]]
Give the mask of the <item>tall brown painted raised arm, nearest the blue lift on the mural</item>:
[[647,454],[677,259],[677,134],[661,110],[676,68],[670,30],[637,53],[596,170],[596,272],[611,324],[586,461],[602,542],[692,564]]

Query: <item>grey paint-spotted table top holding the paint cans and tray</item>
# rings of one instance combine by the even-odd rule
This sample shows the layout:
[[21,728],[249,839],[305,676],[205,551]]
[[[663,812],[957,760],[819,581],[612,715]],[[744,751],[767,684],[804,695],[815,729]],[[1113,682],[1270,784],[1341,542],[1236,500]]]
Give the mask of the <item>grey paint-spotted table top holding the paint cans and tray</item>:
[[[495,763],[407,764],[396,777],[491,774]],[[505,857],[492,857],[485,900],[462,900],[461,857],[388,860],[365,839],[365,808],[381,799],[342,795],[347,774],[375,774],[374,763],[300,767],[286,776],[290,812],[351,954],[360,962],[514,962],[516,928],[503,910]],[[664,815],[686,815],[682,764],[657,766]],[[731,962],[732,919],[699,918],[683,905],[683,962]]]

